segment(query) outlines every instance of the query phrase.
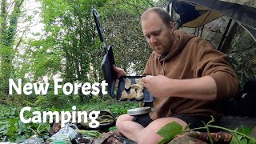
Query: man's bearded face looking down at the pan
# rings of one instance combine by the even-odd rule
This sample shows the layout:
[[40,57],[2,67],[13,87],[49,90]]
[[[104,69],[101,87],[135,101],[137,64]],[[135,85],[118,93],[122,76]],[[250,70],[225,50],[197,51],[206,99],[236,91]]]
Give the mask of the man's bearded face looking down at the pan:
[[158,54],[166,54],[174,42],[174,26],[166,26],[158,14],[150,12],[142,19],[142,32],[146,41]]

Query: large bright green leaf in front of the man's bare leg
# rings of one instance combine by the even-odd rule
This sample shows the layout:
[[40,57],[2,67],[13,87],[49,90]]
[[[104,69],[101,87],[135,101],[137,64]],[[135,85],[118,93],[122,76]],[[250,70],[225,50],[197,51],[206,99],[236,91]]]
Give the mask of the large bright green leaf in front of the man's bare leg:
[[182,133],[182,126],[178,122],[170,122],[163,126],[161,130],[157,132],[162,138],[174,138],[177,134]]

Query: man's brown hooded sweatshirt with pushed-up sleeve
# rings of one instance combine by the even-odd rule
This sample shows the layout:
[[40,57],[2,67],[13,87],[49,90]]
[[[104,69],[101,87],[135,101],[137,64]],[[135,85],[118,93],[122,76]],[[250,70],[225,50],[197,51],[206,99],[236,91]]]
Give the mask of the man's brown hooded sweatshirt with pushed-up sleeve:
[[150,118],[165,118],[180,114],[222,116],[222,99],[230,98],[238,90],[238,78],[227,62],[226,54],[219,52],[203,38],[194,37],[181,30],[174,31],[175,40],[165,58],[152,52],[143,75],[158,74],[172,79],[214,78],[217,86],[215,101],[189,98],[154,98],[154,111]]

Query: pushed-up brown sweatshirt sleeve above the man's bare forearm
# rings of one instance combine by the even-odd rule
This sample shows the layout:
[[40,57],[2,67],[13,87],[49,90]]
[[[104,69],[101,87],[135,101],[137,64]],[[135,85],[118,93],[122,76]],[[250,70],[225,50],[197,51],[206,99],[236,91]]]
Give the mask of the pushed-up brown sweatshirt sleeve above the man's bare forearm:
[[217,99],[230,98],[237,93],[238,77],[232,66],[227,61],[228,56],[207,46],[201,49],[198,55],[198,74],[210,76],[214,79],[217,86]]

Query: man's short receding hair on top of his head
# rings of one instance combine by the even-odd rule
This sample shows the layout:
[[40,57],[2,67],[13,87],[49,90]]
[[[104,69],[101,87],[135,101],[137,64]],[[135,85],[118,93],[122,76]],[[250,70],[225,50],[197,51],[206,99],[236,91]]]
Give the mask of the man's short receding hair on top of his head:
[[169,26],[170,22],[173,22],[172,18],[170,17],[170,14],[165,9],[163,9],[162,7],[152,7],[150,9],[146,10],[142,14],[141,22],[151,12],[154,12],[155,14],[158,14],[159,18],[162,19],[162,22],[164,22],[166,24],[166,26]]

